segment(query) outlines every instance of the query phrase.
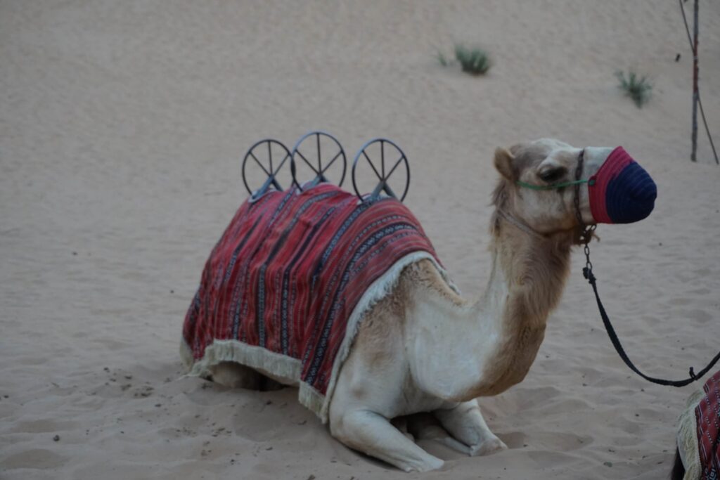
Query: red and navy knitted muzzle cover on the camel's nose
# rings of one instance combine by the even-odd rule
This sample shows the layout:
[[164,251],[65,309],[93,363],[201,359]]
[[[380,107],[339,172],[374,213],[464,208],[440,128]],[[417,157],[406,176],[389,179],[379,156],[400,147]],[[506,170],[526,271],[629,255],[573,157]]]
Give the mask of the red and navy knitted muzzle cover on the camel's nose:
[[612,151],[588,183],[590,212],[597,223],[632,223],[655,206],[657,186],[624,148]]

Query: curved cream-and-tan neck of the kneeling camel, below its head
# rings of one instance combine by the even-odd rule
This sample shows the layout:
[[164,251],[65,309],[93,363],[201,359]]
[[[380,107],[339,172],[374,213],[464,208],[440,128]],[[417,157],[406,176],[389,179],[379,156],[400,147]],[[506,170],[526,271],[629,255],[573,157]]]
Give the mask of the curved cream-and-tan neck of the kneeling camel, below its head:
[[[492,229],[490,280],[477,302],[464,302],[447,289],[431,265],[406,273],[415,302],[405,349],[413,380],[434,397],[464,402],[521,381],[562,293],[568,235],[534,237],[498,222]],[[433,351],[442,355],[428,355]]]

